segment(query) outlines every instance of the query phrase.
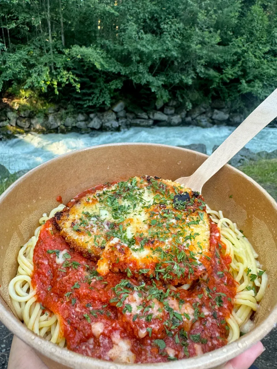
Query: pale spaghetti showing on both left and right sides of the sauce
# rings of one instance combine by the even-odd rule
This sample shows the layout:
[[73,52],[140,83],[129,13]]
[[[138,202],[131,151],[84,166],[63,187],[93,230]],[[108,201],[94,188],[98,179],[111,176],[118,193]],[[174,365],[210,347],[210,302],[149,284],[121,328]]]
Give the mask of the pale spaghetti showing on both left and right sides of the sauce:
[[[49,217],[43,214],[40,218],[40,224],[44,224],[55,213],[61,211],[64,205],[54,208]],[[221,242],[226,245],[226,254],[230,255],[230,272],[233,278],[239,283],[237,294],[233,300],[234,308],[232,315],[226,319],[229,327],[228,342],[233,342],[241,334],[247,333],[253,327],[250,317],[253,311],[259,307],[259,301],[262,299],[267,286],[267,274],[261,269],[257,260],[258,255],[254,251],[248,239],[243,235],[237,225],[223,216],[222,211],[211,210],[207,206],[207,214],[212,221],[217,224]],[[34,236],[30,238],[18,253],[18,270],[9,286],[8,292],[16,311],[18,318],[37,335],[47,339],[60,347],[65,347],[65,338],[59,324],[57,315],[45,310],[37,302],[36,291],[32,287],[31,275],[33,272],[33,252],[35,244],[40,234],[40,227],[35,230]],[[252,280],[251,275],[256,275]],[[190,284],[178,287],[188,289]],[[176,288],[174,286],[171,289]]]

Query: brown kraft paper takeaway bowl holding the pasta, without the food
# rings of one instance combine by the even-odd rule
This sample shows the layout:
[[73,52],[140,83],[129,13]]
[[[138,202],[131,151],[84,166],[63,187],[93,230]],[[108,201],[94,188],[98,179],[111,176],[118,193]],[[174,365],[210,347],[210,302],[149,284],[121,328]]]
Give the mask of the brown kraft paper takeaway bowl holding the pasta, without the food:
[[[169,363],[124,365],[60,349],[29,331],[13,314],[8,283],[16,275],[20,246],[33,234],[43,213],[96,184],[143,174],[175,180],[191,175],[206,155],[155,144],[101,145],[70,152],[31,170],[0,197],[0,319],[37,350],[49,368],[168,368]],[[172,369],[220,368],[263,338],[277,321],[277,204],[259,184],[225,165],[207,182],[203,195],[210,207],[222,210],[252,242],[269,276],[268,288],[255,314],[254,329],[223,348],[195,358],[170,362]],[[230,198],[230,195],[233,195]]]

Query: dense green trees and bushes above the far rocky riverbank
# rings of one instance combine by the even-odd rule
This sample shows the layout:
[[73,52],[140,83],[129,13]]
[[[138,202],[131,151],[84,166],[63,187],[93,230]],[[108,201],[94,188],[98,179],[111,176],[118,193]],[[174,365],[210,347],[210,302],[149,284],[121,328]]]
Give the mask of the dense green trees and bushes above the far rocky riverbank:
[[277,85],[276,14],[275,0],[0,0],[0,90],[85,109],[119,94],[263,99]]

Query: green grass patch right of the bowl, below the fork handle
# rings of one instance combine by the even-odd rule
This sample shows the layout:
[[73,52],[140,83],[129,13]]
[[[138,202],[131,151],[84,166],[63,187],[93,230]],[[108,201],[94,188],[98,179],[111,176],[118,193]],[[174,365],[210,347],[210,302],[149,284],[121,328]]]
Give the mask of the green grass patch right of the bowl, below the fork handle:
[[265,159],[238,168],[258,182],[277,201],[277,159]]

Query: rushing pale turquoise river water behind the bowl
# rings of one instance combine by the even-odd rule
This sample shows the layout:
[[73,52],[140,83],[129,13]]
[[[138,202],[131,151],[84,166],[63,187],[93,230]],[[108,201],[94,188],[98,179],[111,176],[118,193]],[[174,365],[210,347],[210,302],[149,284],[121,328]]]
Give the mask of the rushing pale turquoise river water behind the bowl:
[[[115,142],[152,142],[166,145],[205,144],[211,154],[214,145],[220,145],[235,130],[235,127],[154,127],[138,128],[120,132],[91,132],[81,134],[37,134],[18,135],[0,141],[0,164],[11,172],[26,170],[66,152],[93,145]],[[247,145],[253,152],[277,149],[277,129],[264,128]]]

